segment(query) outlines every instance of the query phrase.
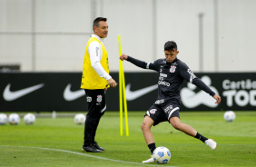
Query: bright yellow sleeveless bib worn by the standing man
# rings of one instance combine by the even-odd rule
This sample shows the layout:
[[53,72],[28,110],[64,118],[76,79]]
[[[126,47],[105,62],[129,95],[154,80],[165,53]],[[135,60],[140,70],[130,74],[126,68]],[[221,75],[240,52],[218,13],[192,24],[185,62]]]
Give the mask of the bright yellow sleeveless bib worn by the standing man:
[[86,45],[86,50],[84,54],[83,76],[82,76],[82,82],[81,82],[82,89],[104,89],[105,85],[108,83],[104,78],[100,77],[99,74],[97,74],[94,71],[94,68],[92,67],[90,54],[88,53],[88,47],[89,47],[89,44],[91,44],[94,41],[102,45],[103,57],[101,60],[101,64],[105,72],[109,74],[108,55],[107,55],[106,49],[104,45],[97,38],[91,37]]

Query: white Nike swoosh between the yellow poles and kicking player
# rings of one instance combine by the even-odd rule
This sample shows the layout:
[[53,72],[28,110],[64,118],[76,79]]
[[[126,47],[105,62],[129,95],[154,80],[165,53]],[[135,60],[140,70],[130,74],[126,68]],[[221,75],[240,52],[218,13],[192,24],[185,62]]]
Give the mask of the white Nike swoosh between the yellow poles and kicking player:
[[152,86],[149,86],[149,87],[145,87],[143,89],[139,89],[137,91],[131,91],[130,88],[131,88],[131,84],[128,83],[126,85],[126,88],[125,88],[125,95],[126,95],[126,100],[127,101],[133,101],[134,99],[137,99],[138,97],[141,97],[143,96],[144,94],[146,93],[150,93],[152,92],[153,90],[157,89],[158,85],[155,84],[155,85],[152,85]]

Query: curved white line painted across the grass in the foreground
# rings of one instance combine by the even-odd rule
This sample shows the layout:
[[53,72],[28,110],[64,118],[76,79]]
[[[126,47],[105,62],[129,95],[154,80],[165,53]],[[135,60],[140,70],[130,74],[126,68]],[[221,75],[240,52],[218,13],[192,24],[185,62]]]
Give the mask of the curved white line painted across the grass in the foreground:
[[[110,158],[99,157],[99,156],[95,156],[95,155],[91,155],[91,154],[87,154],[87,153],[83,153],[83,152],[72,152],[72,151],[60,150],[60,149],[30,147],[30,146],[21,146],[21,145],[0,145],[0,147],[2,147],[2,146],[3,147],[21,147],[21,148],[30,148],[30,149],[39,149],[39,150],[49,150],[49,151],[55,151],[55,152],[68,152],[68,153],[74,153],[74,154],[77,154],[77,155],[83,155],[83,156],[87,156],[87,157],[91,157],[91,158],[97,158],[97,159],[111,161],[111,162],[123,162],[123,163],[138,164],[138,165],[144,165],[144,166],[156,166],[156,165],[153,165],[153,164],[146,164],[146,163],[139,163],[139,162],[124,162],[122,160],[114,160],[114,159],[110,159]],[[175,166],[171,166],[171,167],[175,167]]]

